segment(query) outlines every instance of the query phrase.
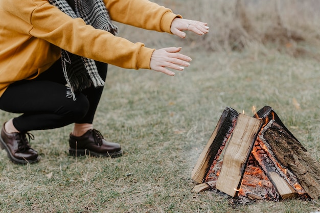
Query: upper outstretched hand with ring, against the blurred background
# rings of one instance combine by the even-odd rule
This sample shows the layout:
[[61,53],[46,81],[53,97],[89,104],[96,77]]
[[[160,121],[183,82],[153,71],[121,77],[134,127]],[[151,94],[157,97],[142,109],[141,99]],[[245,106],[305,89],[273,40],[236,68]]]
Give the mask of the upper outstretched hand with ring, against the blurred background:
[[172,34],[185,38],[186,33],[183,31],[191,31],[198,35],[204,35],[209,32],[208,23],[194,21],[184,18],[175,18],[171,23],[170,31]]

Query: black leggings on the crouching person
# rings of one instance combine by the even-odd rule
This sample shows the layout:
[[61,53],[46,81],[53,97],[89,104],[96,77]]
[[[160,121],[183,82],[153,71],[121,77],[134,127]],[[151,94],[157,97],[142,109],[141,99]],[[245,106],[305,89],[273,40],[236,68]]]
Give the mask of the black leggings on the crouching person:
[[[96,64],[105,80],[107,64]],[[0,109],[23,113],[13,119],[13,125],[20,132],[54,129],[72,123],[92,124],[103,87],[76,91],[74,101],[66,97],[65,84],[61,60],[58,60],[37,78],[11,84],[0,97]]]

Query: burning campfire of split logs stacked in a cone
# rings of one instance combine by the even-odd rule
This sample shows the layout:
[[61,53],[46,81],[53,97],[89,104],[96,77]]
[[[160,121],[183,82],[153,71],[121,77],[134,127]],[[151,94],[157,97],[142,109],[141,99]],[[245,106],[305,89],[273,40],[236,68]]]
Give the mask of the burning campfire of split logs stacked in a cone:
[[192,171],[201,192],[215,188],[252,200],[320,198],[320,165],[277,113],[265,106],[254,116],[226,107]]

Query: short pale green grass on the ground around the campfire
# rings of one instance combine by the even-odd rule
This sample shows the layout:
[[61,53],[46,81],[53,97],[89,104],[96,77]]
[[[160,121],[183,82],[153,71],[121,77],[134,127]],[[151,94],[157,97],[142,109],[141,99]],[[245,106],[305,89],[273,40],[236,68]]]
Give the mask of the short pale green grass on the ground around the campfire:
[[[241,204],[217,192],[191,193],[196,183],[190,178],[226,106],[249,115],[252,106],[271,106],[320,162],[316,57],[297,57],[287,50],[291,46],[279,51],[275,43],[260,42],[247,42],[242,51],[212,52],[201,50],[203,40],[193,36],[181,41],[161,34],[155,42],[150,37],[156,33],[129,35],[132,28],[120,27],[121,36],[138,40],[136,33],[148,46],[184,46],[192,65],[175,77],[110,66],[95,128],[121,143],[125,155],[71,157],[72,126],[34,131],[31,144],[41,155],[39,163],[15,165],[0,152],[0,212],[320,211],[319,200]],[[296,44],[314,51],[308,42]],[[0,115],[3,122],[16,116]]]

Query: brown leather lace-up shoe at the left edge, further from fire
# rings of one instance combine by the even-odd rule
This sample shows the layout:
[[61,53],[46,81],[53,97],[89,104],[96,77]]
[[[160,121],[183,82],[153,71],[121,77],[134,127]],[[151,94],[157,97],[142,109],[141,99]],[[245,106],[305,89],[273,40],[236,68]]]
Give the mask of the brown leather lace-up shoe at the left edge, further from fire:
[[27,140],[34,139],[31,133],[8,133],[3,125],[0,137],[0,147],[5,149],[8,157],[14,163],[35,163],[40,160],[37,151],[32,149]]

